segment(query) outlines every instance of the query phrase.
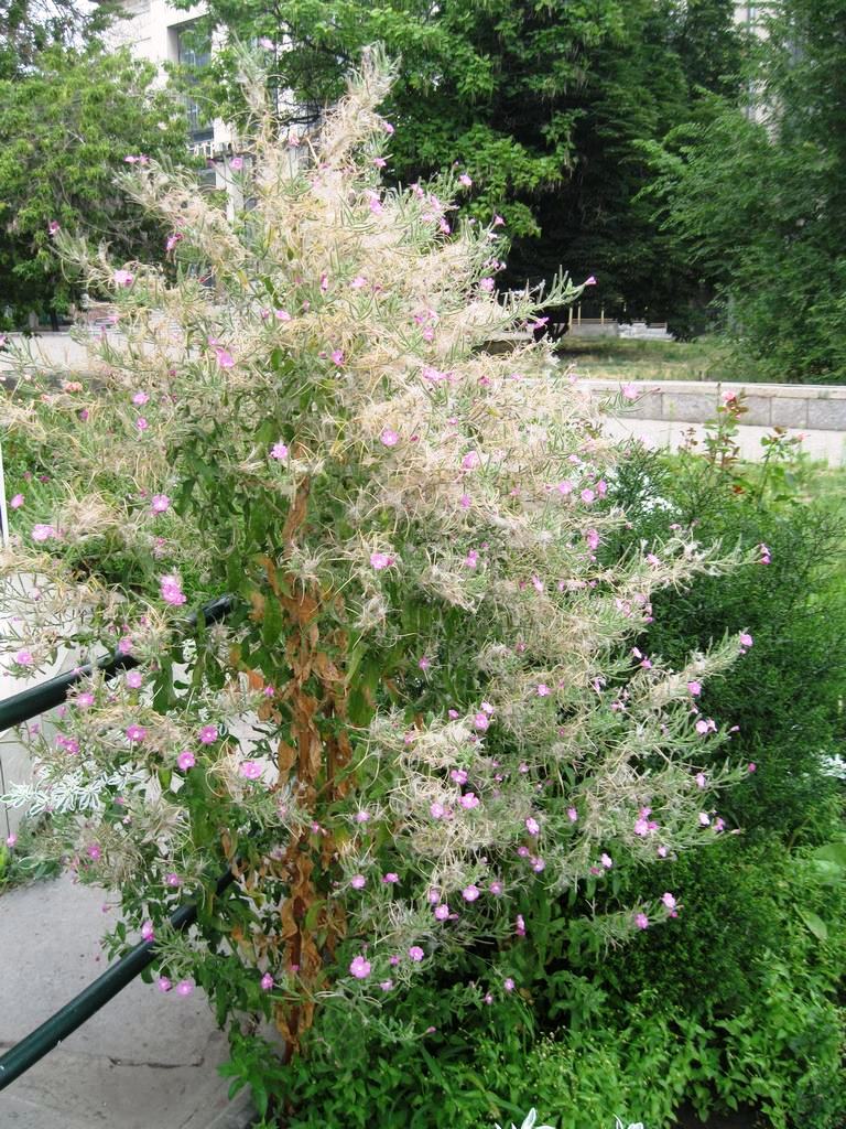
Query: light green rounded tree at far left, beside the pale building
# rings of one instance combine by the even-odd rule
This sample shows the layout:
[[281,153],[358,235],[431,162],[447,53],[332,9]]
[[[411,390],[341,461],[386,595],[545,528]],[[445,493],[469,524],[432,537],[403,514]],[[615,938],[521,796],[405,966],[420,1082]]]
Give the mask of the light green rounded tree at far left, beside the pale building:
[[37,69],[0,81],[0,307],[67,307],[72,283],[50,225],[82,224],[120,259],[164,254],[115,176],[127,156],[186,160],[180,104],[153,87],[155,68],[121,51],[49,47]]

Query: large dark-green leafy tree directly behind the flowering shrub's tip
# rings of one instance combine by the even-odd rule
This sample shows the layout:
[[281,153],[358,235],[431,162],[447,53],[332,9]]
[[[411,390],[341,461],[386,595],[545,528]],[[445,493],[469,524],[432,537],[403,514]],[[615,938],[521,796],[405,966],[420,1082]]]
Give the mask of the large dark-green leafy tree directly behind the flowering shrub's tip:
[[[576,279],[597,274],[609,306],[678,298],[687,264],[668,262],[671,244],[638,200],[653,175],[642,143],[687,121],[700,87],[731,86],[740,37],[726,0],[211,0],[208,9],[206,34],[214,24],[265,46],[279,89],[293,95],[280,102],[293,121],[334,100],[362,45],[384,42],[400,59],[386,106],[397,125],[394,178],[456,165],[469,175],[465,212],[482,221],[500,212],[517,239],[509,282],[564,264]],[[237,53],[224,50],[206,96],[233,107],[236,73]]]

